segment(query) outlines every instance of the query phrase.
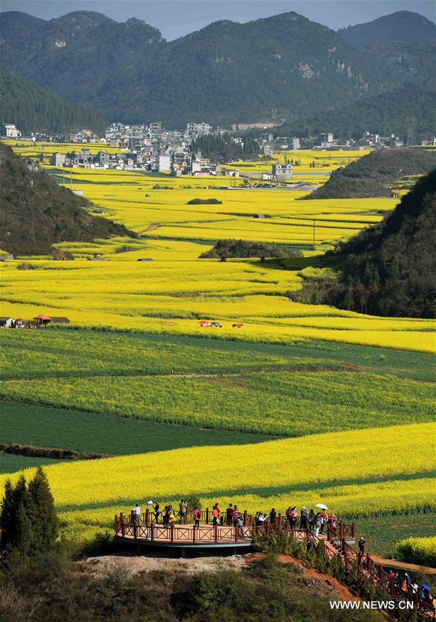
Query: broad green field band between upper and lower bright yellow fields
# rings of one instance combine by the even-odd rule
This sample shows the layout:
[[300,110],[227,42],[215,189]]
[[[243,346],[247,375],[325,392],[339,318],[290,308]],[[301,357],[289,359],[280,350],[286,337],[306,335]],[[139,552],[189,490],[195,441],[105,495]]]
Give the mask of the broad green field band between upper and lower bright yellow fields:
[[3,402],[7,442],[143,453],[434,416],[425,353],[68,329],[1,337],[0,398],[52,407]]

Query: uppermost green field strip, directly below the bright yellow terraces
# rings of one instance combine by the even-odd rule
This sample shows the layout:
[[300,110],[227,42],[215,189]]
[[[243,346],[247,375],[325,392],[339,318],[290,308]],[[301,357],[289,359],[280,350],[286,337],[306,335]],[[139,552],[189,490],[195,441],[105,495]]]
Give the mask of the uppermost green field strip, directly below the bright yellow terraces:
[[0,379],[338,368],[434,380],[433,355],[329,341],[277,345],[146,332],[50,328],[0,333]]

